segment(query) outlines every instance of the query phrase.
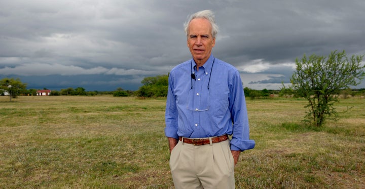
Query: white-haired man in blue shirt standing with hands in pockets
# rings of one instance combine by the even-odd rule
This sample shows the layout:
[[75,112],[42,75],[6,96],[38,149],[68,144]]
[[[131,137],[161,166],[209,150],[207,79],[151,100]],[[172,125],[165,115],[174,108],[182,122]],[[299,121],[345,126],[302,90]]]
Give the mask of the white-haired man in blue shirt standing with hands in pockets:
[[217,31],[211,11],[191,15],[193,58],[169,75],[165,135],[176,188],[234,188],[239,154],[254,147],[239,72],[211,53]]

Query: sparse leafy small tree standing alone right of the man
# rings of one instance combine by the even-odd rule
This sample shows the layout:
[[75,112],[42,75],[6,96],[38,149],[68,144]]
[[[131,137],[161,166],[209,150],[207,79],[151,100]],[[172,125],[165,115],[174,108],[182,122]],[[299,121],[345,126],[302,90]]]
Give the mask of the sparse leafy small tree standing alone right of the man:
[[296,59],[297,68],[290,78],[296,95],[308,100],[306,118],[315,126],[322,126],[325,118],[338,119],[334,103],[342,89],[356,86],[365,77],[365,65],[361,65],[362,56],[347,58],[345,51],[331,52],[328,57],[305,55]]

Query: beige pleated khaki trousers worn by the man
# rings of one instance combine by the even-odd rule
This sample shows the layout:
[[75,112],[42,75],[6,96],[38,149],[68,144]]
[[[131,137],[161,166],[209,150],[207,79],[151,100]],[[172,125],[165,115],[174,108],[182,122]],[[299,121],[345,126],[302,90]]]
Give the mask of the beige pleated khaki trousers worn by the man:
[[193,146],[180,140],[171,152],[175,188],[235,188],[229,140]]

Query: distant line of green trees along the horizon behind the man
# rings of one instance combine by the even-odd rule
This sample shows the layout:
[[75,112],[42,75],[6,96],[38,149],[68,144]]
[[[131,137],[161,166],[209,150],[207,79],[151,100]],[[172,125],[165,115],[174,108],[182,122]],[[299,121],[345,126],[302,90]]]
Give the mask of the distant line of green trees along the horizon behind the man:
[[[143,98],[157,98],[167,97],[168,90],[168,75],[158,75],[155,77],[145,77],[141,83],[143,84],[138,90],[124,90],[118,87],[114,91],[86,91],[83,87],[72,88],[68,87],[61,90],[52,90],[50,96],[97,96],[97,95],[113,95],[114,97],[143,97]],[[2,82],[2,89],[0,89],[0,95],[4,96],[5,91],[11,89],[11,97],[17,96],[36,96],[36,91],[39,89],[26,89],[26,84],[22,83],[19,79],[4,78]],[[13,85],[11,85],[13,84]],[[9,88],[9,85],[12,87]],[[47,89],[47,88],[43,88]],[[277,97],[293,97],[300,98],[295,90],[291,88],[281,88],[280,90],[262,89],[256,90],[245,87],[244,94],[246,98],[251,100],[255,99],[269,99],[274,96]],[[343,89],[338,93],[343,98],[365,96],[365,88],[360,89]]]

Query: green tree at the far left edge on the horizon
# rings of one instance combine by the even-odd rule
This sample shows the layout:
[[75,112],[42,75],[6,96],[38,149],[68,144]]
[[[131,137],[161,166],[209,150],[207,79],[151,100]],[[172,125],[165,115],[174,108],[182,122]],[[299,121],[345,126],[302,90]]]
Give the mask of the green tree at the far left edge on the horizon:
[[10,102],[16,98],[21,91],[26,89],[26,83],[22,83],[19,78],[3,78],[0,80],[0,88],[9,92]]

